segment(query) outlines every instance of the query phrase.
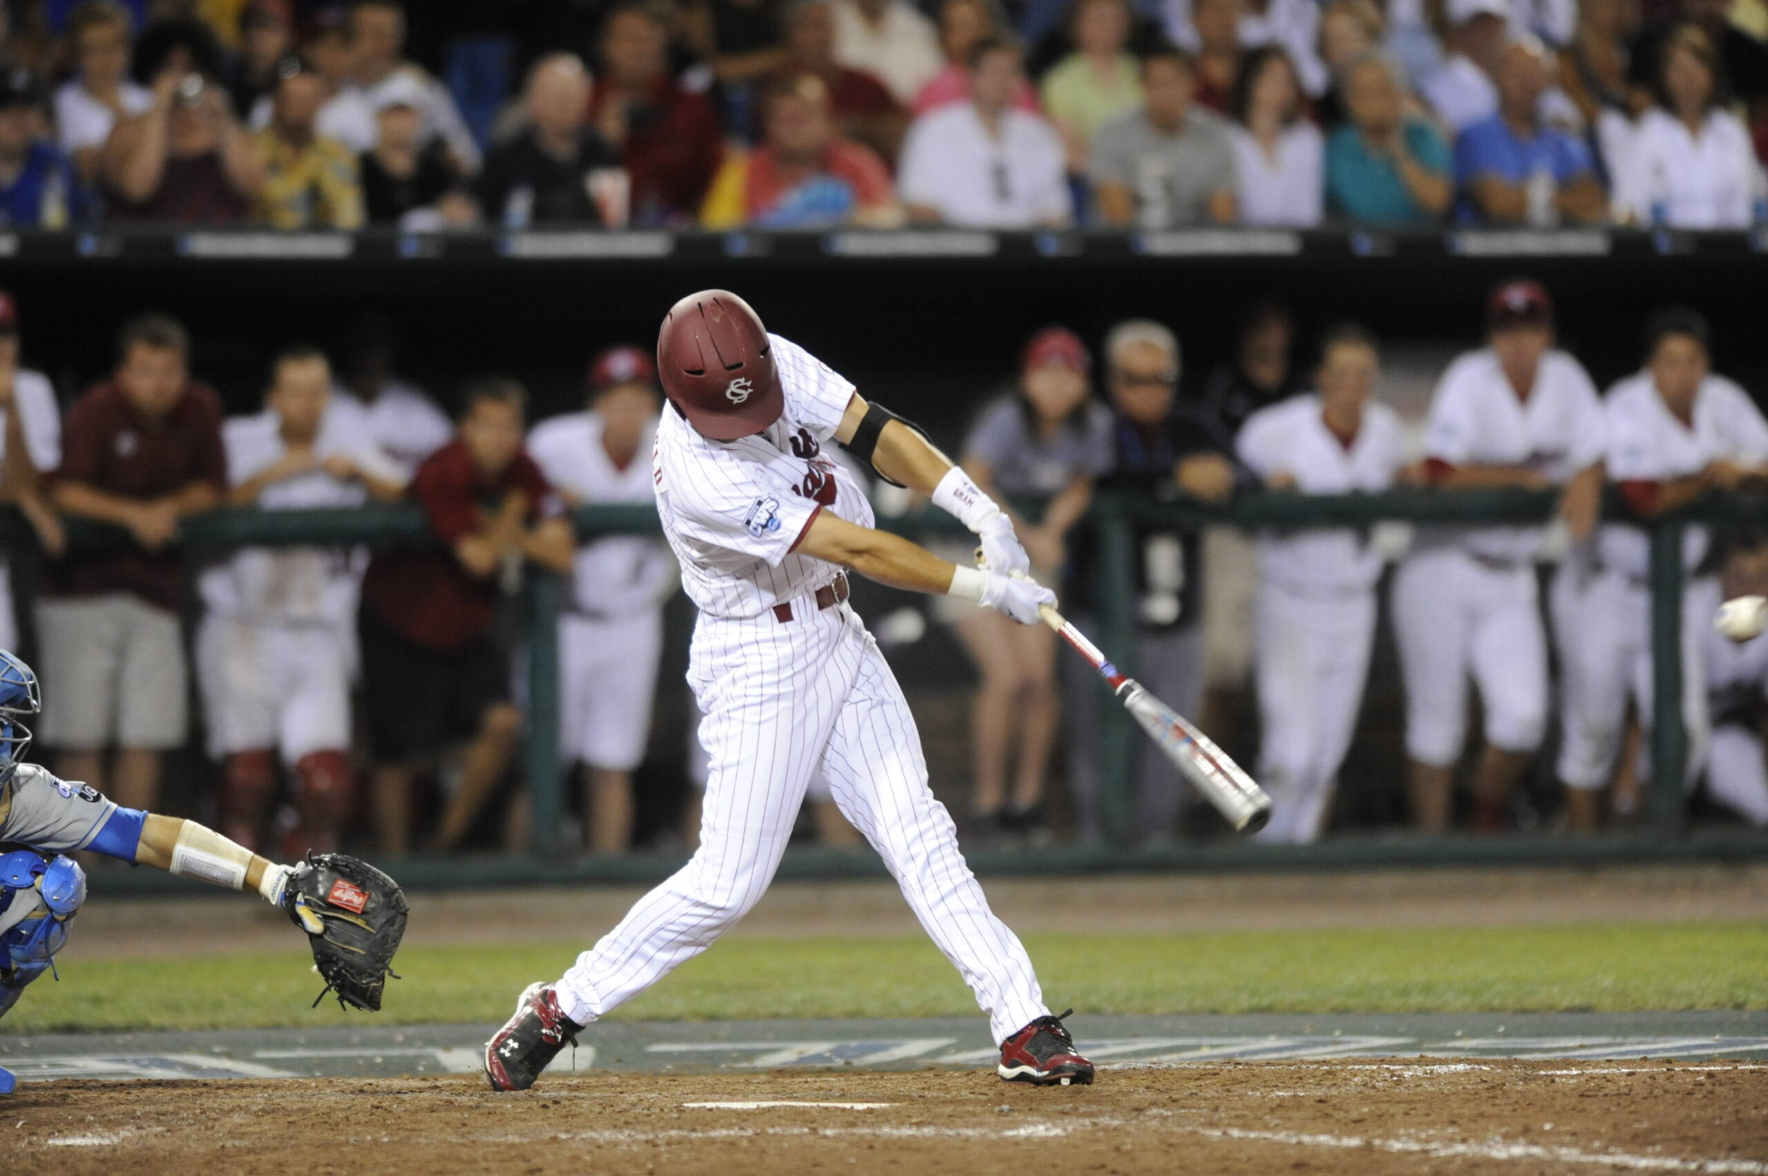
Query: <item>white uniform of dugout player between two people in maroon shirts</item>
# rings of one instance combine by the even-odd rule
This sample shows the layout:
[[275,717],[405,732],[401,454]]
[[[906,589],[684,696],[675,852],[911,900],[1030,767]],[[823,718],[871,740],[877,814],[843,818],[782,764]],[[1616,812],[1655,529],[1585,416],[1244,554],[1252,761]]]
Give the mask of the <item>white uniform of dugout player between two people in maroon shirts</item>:
[[[400,467],[354,417],[327,409],[315,456],[347,456],[389,481]],[[233,417],[221,428],[228,477],[235,486],[288,451],[274,412]],[[359,481],[313,469],[271,483],[262,509],[352,508],[368,500]],[[308,752],[350,746],[348,638],[338,617],[355,599],[348,552],[325,546],[248,546],[198,578],[203,619],[196,630],[196,672],[209,750],[278,746],[290,764]]]

